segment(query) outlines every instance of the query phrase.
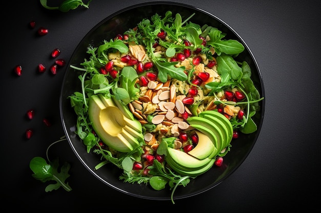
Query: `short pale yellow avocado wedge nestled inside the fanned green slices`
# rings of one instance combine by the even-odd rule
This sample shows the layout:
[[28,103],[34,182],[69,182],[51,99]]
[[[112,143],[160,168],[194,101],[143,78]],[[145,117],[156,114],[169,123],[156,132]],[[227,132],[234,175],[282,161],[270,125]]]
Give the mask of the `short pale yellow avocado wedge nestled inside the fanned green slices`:
[[209,157],[213,152],[217,153],[217,149],[212,143],[212,140],[204,133],[200,131],[195,131],[198,136],[198,143],[188,152],[189,155],[192,155],[200,160],[203,160]]

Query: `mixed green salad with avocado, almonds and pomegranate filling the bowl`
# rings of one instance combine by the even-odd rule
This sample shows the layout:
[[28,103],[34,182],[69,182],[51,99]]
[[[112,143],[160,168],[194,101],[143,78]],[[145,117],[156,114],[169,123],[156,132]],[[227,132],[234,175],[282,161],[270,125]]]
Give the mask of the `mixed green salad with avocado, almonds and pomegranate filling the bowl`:
[[154,190],[186,186],[219,167],[239,134],[257,130],[252,116],[263,100],[244,51],[219,29],[166,12],[88,46],[88,59],[71,65],[81,91],[68,98],[75,133],[95,169],[114,164],[120,180]]

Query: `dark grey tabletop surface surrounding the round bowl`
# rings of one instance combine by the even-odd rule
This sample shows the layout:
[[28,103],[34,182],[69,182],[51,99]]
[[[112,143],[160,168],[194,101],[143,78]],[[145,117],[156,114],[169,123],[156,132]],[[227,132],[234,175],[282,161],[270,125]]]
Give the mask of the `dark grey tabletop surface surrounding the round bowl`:
[[[0,58],[2,207],[35,212],[168,211],[173,207],[180,212],[319,209],[320,1],[173,1],[210,12],[231,26],[248,44],[264,81],[266,109],[258,140],[244,163],[216,187],[176,200],[174,205],[131,197],[93,177],[67,142],[56,145],[53,153],[71,163],[68,180],[73,191],[45,193],[47,184],[31,177],[30,159],[45,158],[47,147],[64,135],[59,115],[64,68],[55,76],[49,70],[39,75],[38,63],[49,68],[55,48],[68,62],[77,44],[99,21],[144,2],[148,1],[93,0],[89,9],[67,13],[46,10],[37,0],[4,3]],[[5,11],[9,15],[5,16]],[[35,29],[28,28],[31,20],[36,21]],[[36,29],[41,26],[49,33],[37,37]],[[23,66],[21,77],[13,74],[17,64]],[[25,117],[30,108],[36,111],[32,121]],[[42,123],[44,117],[52,121],[51,127]],[[24,132],[30,127],[34,135],[25,140]]]

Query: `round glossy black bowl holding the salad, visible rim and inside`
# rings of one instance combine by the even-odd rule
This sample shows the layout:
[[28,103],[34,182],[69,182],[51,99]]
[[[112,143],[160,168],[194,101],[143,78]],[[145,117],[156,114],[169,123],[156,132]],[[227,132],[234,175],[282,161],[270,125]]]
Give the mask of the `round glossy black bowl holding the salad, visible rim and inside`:
[[[227,23],[204,10],[179,3],[144,3],[118,11],[99,22],[90,30],[75,49],[67,66],[62,86],[60,99],[61,119],[67,139],[79,160],[104,184],[131,196],[153,200],[170,200],[171,191],[169,187],[162,191],[155,191],[149,185],[124,183],[118,179],[122,171],[112,164],[105,165],[97,171],[94,170],[95,165],[100,162],[99,157],[93,153],[88,154],[83,142],[74,133],[76,129],[76,115],[70,106],[68,96],[73,94],[74,91],[81,91],[81,84],[77,78],[79,73],[69,68],[69,66],[79,66],[80,63],[84,62],[85,58],[88,58],[86,51],[89,45],[98,46],[102,44],[103,40],[110,40],[114,38],[116,34],[122,34],[128,29],[135,27],[143,18],[150,18],[155,13],[164,16],[168,10],[171,10],[173,14],[179,13],[182,15],[182,19],[195,13],[190,21],[198,23],[200,26],[207,24],[216,27],[227,34],[226,39],[235,39],[241,42],[245,46],[245,51],[239,54],[236,59],[246,61],[250,65],[254,85],[261,96],[265,96],[258,65],[247,44]],[[259,104],[260,111],[256,112],[254,117],[252,117],[257,124],[257,131],[252,134],[240,135],[239,138],[231,143],[231,151],[224,157],[222,167],[213,167],[205,174],[192,179],[186,187],[177,187],[174,193],[174,199],[186,198],[210,190],[229,177],[239,165],[242,164],[252,150],[259,135],[260,128],[262,127],[265,101],[263,100]]]

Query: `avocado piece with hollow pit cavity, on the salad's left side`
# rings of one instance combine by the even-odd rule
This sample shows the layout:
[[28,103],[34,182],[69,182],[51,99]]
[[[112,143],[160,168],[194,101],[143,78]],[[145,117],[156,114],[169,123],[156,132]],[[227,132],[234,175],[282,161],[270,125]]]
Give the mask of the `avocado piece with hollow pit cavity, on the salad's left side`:
[[130,152],[138,147],[137,139],[124,130],[126,116],[115,106],[106,107],[98,95],[89,98],[88,116],[96,134],[107,146],[119,152]]

